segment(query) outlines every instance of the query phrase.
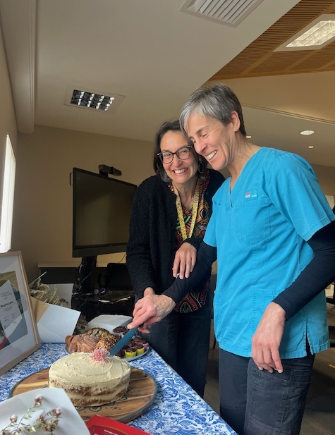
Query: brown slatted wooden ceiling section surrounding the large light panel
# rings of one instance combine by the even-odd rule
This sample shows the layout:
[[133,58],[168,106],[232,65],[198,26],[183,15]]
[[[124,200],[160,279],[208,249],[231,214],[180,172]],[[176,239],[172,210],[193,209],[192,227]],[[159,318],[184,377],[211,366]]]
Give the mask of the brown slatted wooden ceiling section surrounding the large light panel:
[[335,13],[334,0],[301,0],[209,81],[334,71],[335,42],[319,50],[274,51],[324,13]]

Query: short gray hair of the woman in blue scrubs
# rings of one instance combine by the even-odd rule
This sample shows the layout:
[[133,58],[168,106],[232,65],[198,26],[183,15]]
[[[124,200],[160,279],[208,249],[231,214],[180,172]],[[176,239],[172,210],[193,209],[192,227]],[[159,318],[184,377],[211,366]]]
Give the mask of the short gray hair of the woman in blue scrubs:
[[205,116],[217,118],[221,123],[228,124],[231,121],[231,112],[236,111],[240,118],[240,133],[246,136],[242,107],[236,94],[226,85],[217,83],[208,87],[200,87],[193,92],[181,109],[179,121],[181,129],[187,135],[185,125],[190,116],[197,112]]

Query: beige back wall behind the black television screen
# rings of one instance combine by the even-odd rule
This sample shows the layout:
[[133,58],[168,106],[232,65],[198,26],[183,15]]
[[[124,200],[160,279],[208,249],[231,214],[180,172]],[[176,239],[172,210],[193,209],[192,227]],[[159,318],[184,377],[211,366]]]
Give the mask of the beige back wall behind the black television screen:
[[[23,253],[28,281],[37,278],[38,262],[73,262],[73,167],[99,172],[99,164],[122,171],[120,180],[139,184],[154,173],[152,143],[35,125],[18,135],[16,202],[12,249]],[[100,264],[123,255],[102,255]]]

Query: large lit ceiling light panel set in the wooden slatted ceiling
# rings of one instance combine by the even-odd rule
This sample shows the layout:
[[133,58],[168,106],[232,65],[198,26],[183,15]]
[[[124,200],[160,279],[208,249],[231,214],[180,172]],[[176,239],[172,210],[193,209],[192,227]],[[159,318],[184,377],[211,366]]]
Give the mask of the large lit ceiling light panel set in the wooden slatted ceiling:
[[323,14],[274,51],[320,49],[335,39],[335,14]]

